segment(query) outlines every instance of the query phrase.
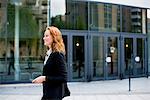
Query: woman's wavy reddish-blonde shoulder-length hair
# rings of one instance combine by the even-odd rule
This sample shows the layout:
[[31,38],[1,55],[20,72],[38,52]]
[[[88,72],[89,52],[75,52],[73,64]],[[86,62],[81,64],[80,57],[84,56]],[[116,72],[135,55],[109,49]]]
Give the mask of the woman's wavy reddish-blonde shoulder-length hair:
[[60,32],[60,30],[54,26],[49,26],[46,28],[46,30],[49,30],[49,32],[53,38],[53,43],[51,46],[52,51],[53,52],[61,52],[63,54],[66,54],[65,45],[64,45],[62,33]]

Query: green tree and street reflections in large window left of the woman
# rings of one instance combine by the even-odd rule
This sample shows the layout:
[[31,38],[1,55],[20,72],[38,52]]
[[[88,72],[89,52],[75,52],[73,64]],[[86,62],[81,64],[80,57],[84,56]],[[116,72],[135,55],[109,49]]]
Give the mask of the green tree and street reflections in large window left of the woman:
[[[0,17],[4,23],[3,26],[0,26],[5,30],[0,30],[0,47],[2,47],[0,50],[0,60],[2,60],[2,62],[0,61],[0,71],[4,74],[2,82],[14,81],[14,70],[10,70],[9,75],[7,73],[10,53],[11,50],[14,50],[15,42],[15,5],[10,0],[7,1],[0,1],[2,5],[0,16],[5,16],[5,18]],[[21,69],[19,81],[30,81],[30,79],[41,75],[43,66],[41,55],[44,51],[42,49],[42,31],[46,23],[45,2],[40,1],[36,4],[34,0],[24,0],[21,4],[19,5],[18,19],[20,27],[19,67]]]

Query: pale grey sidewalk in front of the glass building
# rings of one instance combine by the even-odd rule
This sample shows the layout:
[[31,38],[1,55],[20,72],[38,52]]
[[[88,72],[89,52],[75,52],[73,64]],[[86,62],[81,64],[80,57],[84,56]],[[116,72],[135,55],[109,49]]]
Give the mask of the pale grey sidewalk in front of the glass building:
[[[69,82],[71,96],[63,100],[150,100],[150,78]],[[0,85],[0,100],[40,100],[42,85]]]

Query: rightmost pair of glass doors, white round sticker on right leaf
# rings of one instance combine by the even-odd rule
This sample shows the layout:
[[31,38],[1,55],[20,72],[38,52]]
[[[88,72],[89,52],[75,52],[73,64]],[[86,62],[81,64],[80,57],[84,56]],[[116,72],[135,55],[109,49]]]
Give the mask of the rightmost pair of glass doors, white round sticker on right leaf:
[[124,38],[124,74],[133,77],[144,76],[147,73],[146,39],[139,37]]

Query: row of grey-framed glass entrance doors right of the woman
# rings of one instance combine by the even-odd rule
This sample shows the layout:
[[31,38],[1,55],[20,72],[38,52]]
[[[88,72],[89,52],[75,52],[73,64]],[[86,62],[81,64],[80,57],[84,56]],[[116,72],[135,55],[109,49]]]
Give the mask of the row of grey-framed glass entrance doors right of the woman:
[[146,36],[122,34],[65,32],[69,81],[146,76]]

